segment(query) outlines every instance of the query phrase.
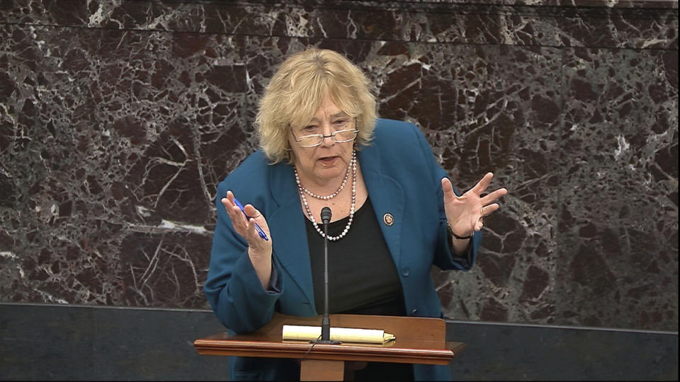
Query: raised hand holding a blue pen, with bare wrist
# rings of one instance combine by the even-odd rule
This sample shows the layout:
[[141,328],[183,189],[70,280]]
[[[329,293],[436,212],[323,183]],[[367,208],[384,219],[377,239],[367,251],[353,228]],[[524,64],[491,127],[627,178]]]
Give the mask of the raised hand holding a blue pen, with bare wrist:
[[[244,205],[246,215],[250,216],[249,219],[246,219],[241,209],[234,203],[234,194],[231,191],[227,191],[227,197],[223,197],[221,202],[224,204],[227,214],[229,214],[234,230],[248,242],[250,261],[262,283],[262,287],[267,289],[271,277],[272,239],[266,219],[252,204]],[[269,240],[259,236],[255,224],[260,226]]]

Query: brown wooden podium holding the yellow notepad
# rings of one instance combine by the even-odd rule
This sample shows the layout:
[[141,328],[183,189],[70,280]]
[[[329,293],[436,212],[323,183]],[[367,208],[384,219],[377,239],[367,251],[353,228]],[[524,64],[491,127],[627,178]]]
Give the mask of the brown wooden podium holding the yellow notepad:
[[[342,381],[346,361],[447,365],[467,346],[446,342],[446,323],[439,318],[331,314],[331,328],[380,329],[395,335],[385,345],[316,344],[283,341],[283,325],[321,325],[322,317],[302,318],[274,313],[270,323],[247,335],[217,333],[193,342],[199,354],[300,360],[301,381]],[[310,350],[311,348],[311,350]]]

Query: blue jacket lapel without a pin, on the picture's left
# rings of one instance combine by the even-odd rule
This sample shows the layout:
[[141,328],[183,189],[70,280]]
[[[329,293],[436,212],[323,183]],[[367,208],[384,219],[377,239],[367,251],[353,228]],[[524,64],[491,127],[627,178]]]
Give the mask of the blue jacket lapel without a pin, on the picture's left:
[[273,241],[273,252],[285,272],[304,294],[312,312],[314,308],[314,287],[310,248],[307,243],[305,216],[302,215],[300,197],[297,195],[293,168],[285,163],[273,165],[270,172],[272,195],[278,208],[266,216]]

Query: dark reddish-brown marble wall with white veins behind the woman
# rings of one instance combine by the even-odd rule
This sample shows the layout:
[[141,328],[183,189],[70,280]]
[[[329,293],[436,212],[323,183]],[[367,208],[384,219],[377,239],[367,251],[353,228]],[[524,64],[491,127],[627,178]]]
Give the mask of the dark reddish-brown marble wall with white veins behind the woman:
[[308,45],[461,189],[449,318],[678,330],[677,1],[0,1],[0,301],[207,308],[217,183]]

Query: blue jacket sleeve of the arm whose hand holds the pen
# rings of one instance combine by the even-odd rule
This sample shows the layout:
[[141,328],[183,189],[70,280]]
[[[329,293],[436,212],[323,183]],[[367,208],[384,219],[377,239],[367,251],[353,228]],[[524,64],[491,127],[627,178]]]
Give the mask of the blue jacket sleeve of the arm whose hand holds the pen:
[[[226,181],[225,181],[226,182]],[[268,323],[283,291],[280,267],[272,260],[272,283],[264,289],[248,257],[247,242],[232,226],[220,202],[227,193],[225,182],[217,187],[217,224],[212,238],[210,267],[203,291],[212,311],[225,327],[237,333],[252,332]],[[272,256],[275,259],[275,256]]]

